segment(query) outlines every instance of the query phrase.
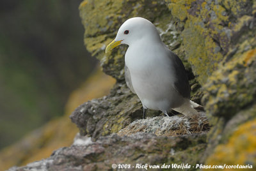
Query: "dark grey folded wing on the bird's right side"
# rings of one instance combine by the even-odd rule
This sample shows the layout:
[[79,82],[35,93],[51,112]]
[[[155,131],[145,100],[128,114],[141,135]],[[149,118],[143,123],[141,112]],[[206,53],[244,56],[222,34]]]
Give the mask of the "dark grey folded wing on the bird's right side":
[[170,51],[170,56],[173,59],[173,67],[175,75],[177,76],[177,80],[174,82],[174,87],[184,98],[190,99],[191,89],[185,67],[180,58],[172,51]]

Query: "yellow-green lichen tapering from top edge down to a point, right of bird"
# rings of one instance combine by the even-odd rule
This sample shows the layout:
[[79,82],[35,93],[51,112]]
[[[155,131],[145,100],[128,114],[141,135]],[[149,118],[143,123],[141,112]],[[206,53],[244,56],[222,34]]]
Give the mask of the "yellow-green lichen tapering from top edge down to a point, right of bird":
[[[227,50],[229,45],[231,33],[227,34],[227,29],[223,29],[223,23],[228,22],[227,12],[218,1],[166,0],[166,3],[173,17],[184,22],[181,35],[186,58],[200,84],[204,84],[223,59],[221,48]],[[219,37],[220,45],[214,37]]]

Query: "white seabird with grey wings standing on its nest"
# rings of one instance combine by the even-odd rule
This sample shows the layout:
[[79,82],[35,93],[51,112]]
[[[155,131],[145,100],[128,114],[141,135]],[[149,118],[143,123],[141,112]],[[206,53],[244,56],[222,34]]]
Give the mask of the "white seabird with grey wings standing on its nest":
[[201,107],[190,99],[190,86],[182,61],[161,40],[152,22],[141,17],[126,20],[106,53],[120,44],[129,45],[125,53],[125,80],[143,105],[168,116],[173,109],[184,115],[198,114]]

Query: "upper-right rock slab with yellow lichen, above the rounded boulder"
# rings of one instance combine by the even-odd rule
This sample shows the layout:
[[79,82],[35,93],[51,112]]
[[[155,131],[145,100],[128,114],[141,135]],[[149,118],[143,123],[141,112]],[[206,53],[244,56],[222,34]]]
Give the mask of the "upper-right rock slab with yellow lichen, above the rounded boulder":
[[[186,59],[200,84],[218,67],[239,35],[253,27],[253,1],[166,0],[177,26],[182,27]],[[248,27],[248,28],[246,28]],[[191,43],[193,41],[193,43]]]

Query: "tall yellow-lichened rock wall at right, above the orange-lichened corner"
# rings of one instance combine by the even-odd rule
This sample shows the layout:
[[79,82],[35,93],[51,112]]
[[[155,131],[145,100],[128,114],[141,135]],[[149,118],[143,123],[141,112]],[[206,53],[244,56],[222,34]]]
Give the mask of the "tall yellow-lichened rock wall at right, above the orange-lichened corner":
[[256,92],[256,2],[166,0],[166,3],[181,30],[186,59],[203,85],[203,103],[214,125],[208,135],[204,161],[239,124],[255,117],[248,111],[255,103]]

